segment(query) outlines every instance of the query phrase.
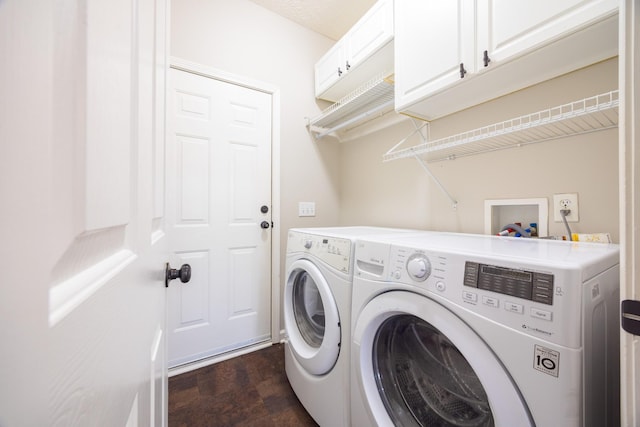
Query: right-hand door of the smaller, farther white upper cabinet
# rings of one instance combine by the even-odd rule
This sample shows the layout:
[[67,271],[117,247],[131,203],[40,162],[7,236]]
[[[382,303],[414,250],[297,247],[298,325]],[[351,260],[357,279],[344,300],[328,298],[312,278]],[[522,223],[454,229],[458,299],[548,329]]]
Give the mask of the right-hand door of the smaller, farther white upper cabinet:
[[380,0],[345,36],[345,67],[358,65],[392,39],[393,0]]

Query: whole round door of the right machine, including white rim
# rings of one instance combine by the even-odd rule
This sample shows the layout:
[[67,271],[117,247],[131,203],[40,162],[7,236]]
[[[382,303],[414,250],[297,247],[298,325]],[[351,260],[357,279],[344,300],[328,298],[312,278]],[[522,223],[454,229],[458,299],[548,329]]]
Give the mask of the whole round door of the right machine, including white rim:
[[393,291],[374,298],[353,339],[358,387],[381,426],[534,425],[491,349],[427,297]]

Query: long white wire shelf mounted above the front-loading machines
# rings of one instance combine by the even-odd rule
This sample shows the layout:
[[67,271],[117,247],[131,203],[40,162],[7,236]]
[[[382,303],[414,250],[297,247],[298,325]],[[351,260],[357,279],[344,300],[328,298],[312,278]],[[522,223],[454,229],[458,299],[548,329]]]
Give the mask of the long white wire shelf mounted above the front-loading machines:
[[384,154],[383,161],[420,156],[432,163],[616,128],[618,126],[618,105],[618,91],[616,90],[399,149],[407,141],[408,138],[405,138]]

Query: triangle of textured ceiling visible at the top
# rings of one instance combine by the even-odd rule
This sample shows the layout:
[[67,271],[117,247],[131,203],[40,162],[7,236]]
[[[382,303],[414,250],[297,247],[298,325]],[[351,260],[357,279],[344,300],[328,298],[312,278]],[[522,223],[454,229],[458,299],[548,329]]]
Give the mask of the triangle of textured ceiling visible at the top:
[[251,0],[278,15],[339,40],[376,0]]

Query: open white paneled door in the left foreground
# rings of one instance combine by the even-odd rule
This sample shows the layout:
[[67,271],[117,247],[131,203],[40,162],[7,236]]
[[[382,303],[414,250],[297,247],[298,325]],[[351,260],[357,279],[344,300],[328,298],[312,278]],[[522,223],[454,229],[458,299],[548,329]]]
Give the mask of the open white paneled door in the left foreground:
[[167,17],[0,4],[2,426],[166,425]]

